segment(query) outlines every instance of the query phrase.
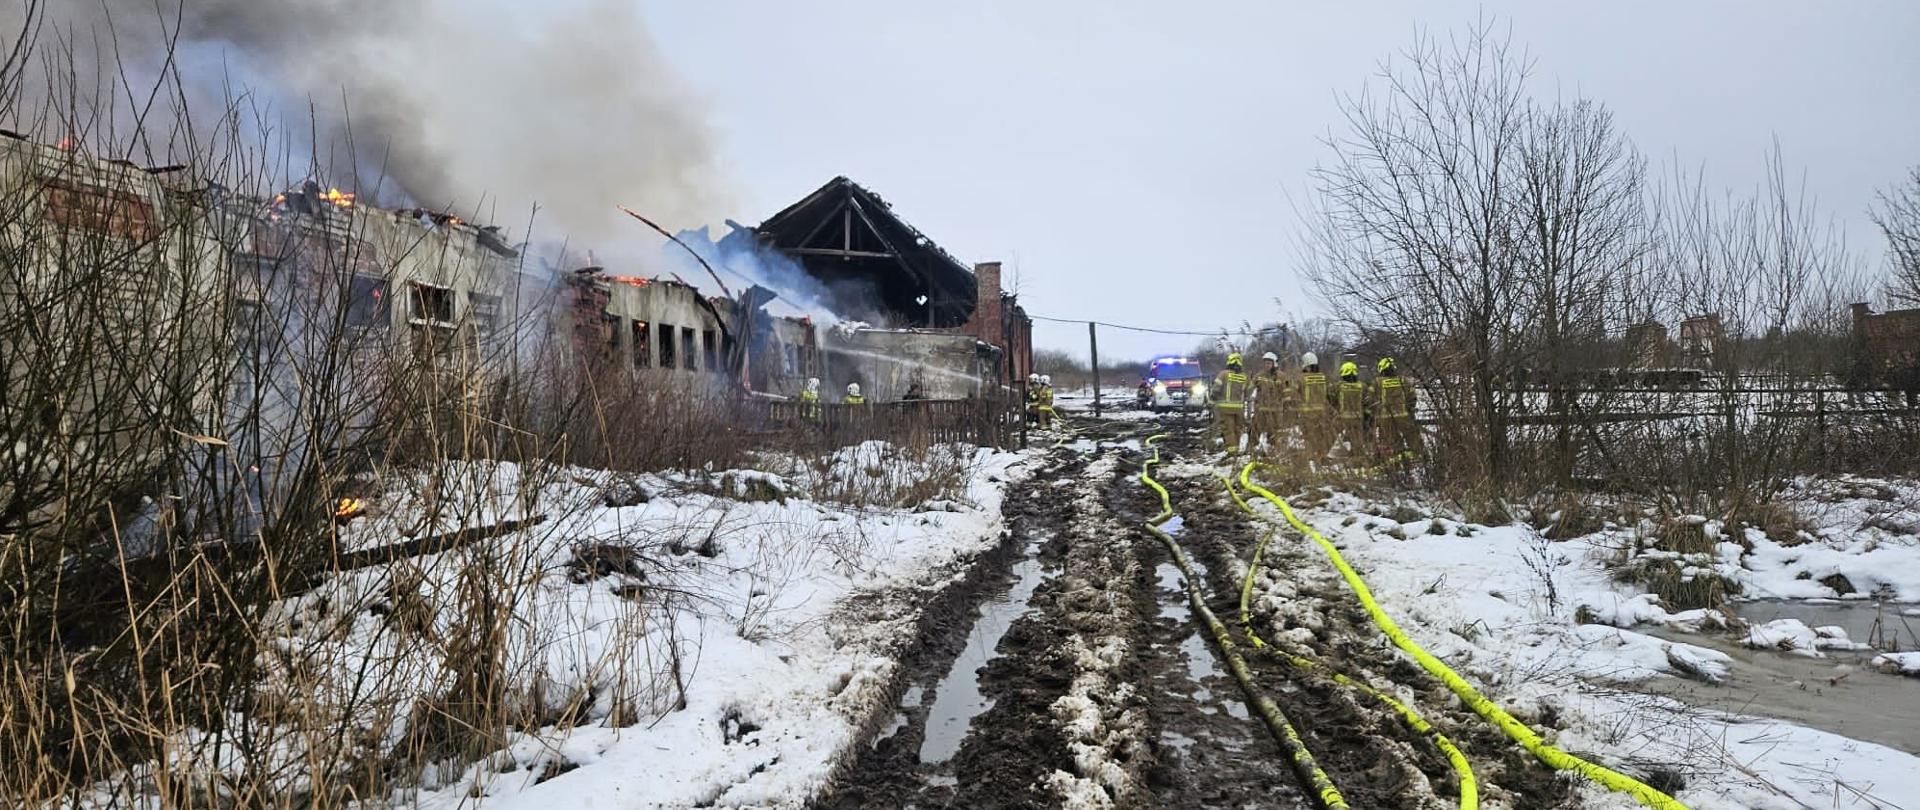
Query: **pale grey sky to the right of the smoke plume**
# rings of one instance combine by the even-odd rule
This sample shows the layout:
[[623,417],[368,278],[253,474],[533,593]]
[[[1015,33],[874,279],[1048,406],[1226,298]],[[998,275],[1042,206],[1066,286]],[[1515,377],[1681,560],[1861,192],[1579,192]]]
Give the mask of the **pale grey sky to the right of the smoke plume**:
[[[964,261],[1012,267],[1037,315],[1173,328],[1319,309],[1292,200],[1354,92],[1415,27],[1498,15],[1542,94],[1609,104],[1657,159],[1751,188],[1789,171],[1880,244],[1864,209],[1920,163],[1920,4],[645,2],[756,223],[833,175]],[[1603,8],[1603,12],[1601,12]],[[1281,303],[1275,303],[1279,299]],[[1037,324],[1085,349],[1085,326]],[[1102,332],[1102,353],[1192,338]]]

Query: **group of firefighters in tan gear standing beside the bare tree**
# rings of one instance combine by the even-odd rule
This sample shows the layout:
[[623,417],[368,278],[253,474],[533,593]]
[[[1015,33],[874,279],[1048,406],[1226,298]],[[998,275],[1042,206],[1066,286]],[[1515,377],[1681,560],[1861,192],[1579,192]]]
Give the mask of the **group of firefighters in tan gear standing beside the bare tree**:
[[[1300,355],[1300,372],[1281,370],[1273,351],[1261,355],[1265,369],[1248,374],[1240,353],[1227,355],[1227,370],[1213,378],[1213,426],[1227,453],[1265,445],[1279,453],[1294,428],[1309,459],[1325,459],[1336,445],[1348,457],[1377,453],[1384,459],[1417,459],[1421,430],[1413,422],[1413,384],[1400,376],[1392,357],[1375,363],[1373,380],[1359,378],[1357,363],[1340,363],[1340,376],[1327,378],[1319,357]],[[1252,420],[1248,418],[1252,411]]]

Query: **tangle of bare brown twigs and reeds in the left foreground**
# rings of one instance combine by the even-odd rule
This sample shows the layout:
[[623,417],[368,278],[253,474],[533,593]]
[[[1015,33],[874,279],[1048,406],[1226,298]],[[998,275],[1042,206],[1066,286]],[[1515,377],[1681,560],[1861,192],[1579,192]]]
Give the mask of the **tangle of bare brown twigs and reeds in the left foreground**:
[[[196,121],[175,75],[132,92],[171,115],[119,121],[60,48],[15,46],[0,804],[365,804],[518,733],[678,704],[689,595],[545,585],[591,539],[564,465],[732,463],[724,397],[589,369],[538,307],[386,334],[363,278],[424,238],[376,253],[359,211],[271,202],[321,155],[273,159],[238,102]],[[33,63],[56,69],[27,94]],[[125,159],[154,144],[184,167]]]

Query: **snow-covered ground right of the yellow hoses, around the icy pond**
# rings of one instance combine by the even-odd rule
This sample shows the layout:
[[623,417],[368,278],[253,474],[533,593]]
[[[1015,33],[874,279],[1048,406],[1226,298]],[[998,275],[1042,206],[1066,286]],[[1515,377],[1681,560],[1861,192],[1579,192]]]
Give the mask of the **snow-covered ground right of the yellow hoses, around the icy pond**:
[[[1920,601],[1920,532],[1908,530],[1920,499],[1912,484],[1805,482],[1795,511],[1812,526],[1788,545],[1747,530],[1738,541],[1716,522],[1701,528],[1713,553],[1674,555],[1636,545],[1620,528],[1548,541],[1524,524],[1478,526],[1430,505],[1331,493],[1302,518],[1342,547],[1380,605],[1423,647],[1488,689],[1523,720],[1559,718],[1557,743],[1609,762],[1672,777],[1692,808],[1891,808],[1920,806],[1920,756],[1751,712],[1701,710],[1653,695],[1657,679],[1720,683],[1738,674],[1709,635],[1738,620],[1720,610],[1668,610],[1659,597],[1615,582],[1624,555],[1672,555],[1686,576],[1718,574],[1749,597]],[[1271,507],[1260,503],[1269,512]],[[1636,551],[1638,549],[1638,551]],[[1851,593],[1822,585],[1843,574]],[[1910,610],[1912,605],[1899,605]],[[1901,610],[1893,610],[1901,612]],[[1661,631],[1665,637],[1653,635]],[[1862,647],[1845,628],[1776,620],[1743,630],[1753,647],[1826,656]],[[1912,649],[1912,647],[1905,647]],[[1882,670],[1920,668],[1912,655],[1882,656]],[[1903,703],[1857,706],[1920,722],[1920,683],[1908,689],[1878,672],[1880,689],[1907,689]],[[1889,685],[1891,683],[1891,685]],[[1715,689],[1715,687],[1705,687]],[[1726,689],[1726,687],[1720,687]],[[1801,685],[1809,689],[1809,685]],[[1759,703],[1759,701],[1757,701]],[[1590,789],[1588,806],[1634,806]]]

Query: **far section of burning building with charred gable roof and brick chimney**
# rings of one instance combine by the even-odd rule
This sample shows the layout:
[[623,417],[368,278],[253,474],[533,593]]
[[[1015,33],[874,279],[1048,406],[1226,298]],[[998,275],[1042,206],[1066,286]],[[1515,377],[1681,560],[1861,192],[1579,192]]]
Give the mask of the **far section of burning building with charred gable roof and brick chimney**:
[[[582,269],[570,282],[578,345],[634,369],[728,376],[756,393],[793,395],[816,376],[828,390],[860,384],[877,401],[910,390],[977,397],[1033,369],[1033,321],[1000,290],[1000,265],[968,269],[845,177],[755,228],[676,240],[701,263],[766,286],[705,298],[680,276]],[[776,299],[806,315],[776,315]]]

